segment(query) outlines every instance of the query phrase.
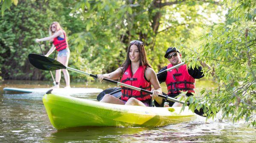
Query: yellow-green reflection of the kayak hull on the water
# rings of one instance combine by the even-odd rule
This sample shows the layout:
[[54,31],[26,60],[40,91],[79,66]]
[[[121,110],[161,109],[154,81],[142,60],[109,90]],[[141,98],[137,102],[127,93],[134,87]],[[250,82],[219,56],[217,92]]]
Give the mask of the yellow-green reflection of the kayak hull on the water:
[[[47,138],[51,143],[59,141],[73,142],[122,142],[122,135],[138,134],[146,128],[119,128],[119,127],[81,127],[60,130]],[[121,138],[120,138],[121,137]]]

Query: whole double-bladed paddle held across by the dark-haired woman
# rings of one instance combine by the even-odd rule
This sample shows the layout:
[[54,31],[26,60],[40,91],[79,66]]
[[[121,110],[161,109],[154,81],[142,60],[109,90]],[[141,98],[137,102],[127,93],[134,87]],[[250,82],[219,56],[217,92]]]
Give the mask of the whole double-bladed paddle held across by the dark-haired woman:
[[[61,64],[60,62],[56,61],[55,59],[52,59],[52,58],[49,58],[49,57],[46,57],[46,56],[43,56],[43,55],[38,55],[38,54],[31,53],[31,54],[29,54],[29,62],[34,67],[36,67],[36,68],[38,68],[40,70],[67,69],[67,70],[70,70],[70,71],[74,71],[76,73],[80,73],[80,74],[84,74],[86,76],[91,76],[93,78],[97,78],[97,75],[86,73],[84,71],[77,70],[77,69],[74,69],[72,67],[66,67],[63,64]],[[106,79],[106,78],[103,78],[103,80],[111,82],[113,84],[117,84],[117,85],[123,86],[123,87],[128,87],[128,88],[133,89],[133,90],[137,90],[137,91],[142,91],[142,92],[145,92],[145,93],[153,94],[151,91],[144,90],[144,89],[141,89],[139,87],[134,87],[134,86],[131,86],[131,85],[128,85],[128,84],[124,84],[122,82],[118,82],[118,81],[114,81],[114,80]],[[165,99],[167,99],[169,101],[174,101],[174,102],[178,102],[178,103],[181,103],[181,104],[185,104],[184,101],[179,101],[179,100],[177,100],[175,98],[171,98],[171,97],[166,96],[166,95],[159,94],[158,96],[160,96],[161,98],[165,98]],[[189,103],[187,103],[187,105],[189,105]],[[201,112],[201,111],[202,111],[202,109],[200,109],[200,112],[195,112],[195,113],[202,116],[204,114],[204,112]]]

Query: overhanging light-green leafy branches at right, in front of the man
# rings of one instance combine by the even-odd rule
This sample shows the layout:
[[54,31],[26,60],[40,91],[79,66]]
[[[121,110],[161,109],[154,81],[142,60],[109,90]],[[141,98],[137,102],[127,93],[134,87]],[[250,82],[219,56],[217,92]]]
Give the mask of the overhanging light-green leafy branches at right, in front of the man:
[[[214,90],[202,90],[204,99],[199,102],[194,97],[191,108],[205,105],[209,107],[207,117],[213,117],[222,110],[223,118],[234,122],[244,119],[256,126],[256,1],[224,0],[229,9],[226,23],[205,28],[201,37],[201,47],[195,52],[189,46],[180,44],[180,48],[190,53],[190,66],[198,64],[198,59],[212,65],[213,78],[218,87]],[[206,70],[206,76],[212,70]],[[213,112],[214,114],[210,114]]]

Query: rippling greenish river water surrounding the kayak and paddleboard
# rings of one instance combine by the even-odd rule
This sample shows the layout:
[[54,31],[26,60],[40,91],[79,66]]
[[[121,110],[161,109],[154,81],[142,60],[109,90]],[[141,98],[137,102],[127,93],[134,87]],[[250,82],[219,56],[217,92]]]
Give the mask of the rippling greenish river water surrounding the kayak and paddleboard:
[[[113,87],[107,83],[71,84],[72,87]],[[244,121],[196,121],[158,128],[81,127],[56,130],[49,122],[42,102],[43,94],[7,93],[3,87],[45,88],[45,81],[0,82],[0,143],[255,143],[256,129],[247,127]],[[161,84],[163,91],[166,90]],[[209,81],[197,82],[197,90],[211,88]],[[97,94],[79,95],[80,98],[96,100]]]

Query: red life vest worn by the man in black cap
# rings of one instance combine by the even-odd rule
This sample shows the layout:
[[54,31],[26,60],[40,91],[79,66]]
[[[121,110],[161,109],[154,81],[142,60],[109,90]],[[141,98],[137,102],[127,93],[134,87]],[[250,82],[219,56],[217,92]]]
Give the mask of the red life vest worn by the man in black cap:
[[[167,69],[172,67],[168,64]],[[166,86],[168,95],[178,94],[181,91],[188,91],[188,93],[195,93],[195,79],[189,75],[186,64],[167,72]]]

